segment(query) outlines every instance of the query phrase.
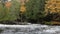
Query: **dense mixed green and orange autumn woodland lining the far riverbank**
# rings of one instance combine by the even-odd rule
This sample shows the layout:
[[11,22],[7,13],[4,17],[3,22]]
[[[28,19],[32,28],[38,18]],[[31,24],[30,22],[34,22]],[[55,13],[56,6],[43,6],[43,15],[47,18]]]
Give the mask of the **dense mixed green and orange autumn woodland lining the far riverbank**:
[[0,0],[0,23],[60,25],[59,3],[57,0]]

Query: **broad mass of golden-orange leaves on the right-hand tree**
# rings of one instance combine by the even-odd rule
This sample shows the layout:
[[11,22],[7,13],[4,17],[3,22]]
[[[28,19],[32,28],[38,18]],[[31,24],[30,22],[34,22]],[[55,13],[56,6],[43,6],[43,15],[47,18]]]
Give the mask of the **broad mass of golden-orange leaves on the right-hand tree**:
[[50,11],[50,13],[60,12],[60,0],[46,1],[45,11]]

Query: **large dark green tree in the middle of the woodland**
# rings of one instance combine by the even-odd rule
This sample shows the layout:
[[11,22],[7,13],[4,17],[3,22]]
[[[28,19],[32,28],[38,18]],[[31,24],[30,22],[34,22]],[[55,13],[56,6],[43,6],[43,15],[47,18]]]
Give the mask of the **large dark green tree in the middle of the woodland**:
[[45,0],[29,0],[26,3],[26,19],[39,20],[45,16]]

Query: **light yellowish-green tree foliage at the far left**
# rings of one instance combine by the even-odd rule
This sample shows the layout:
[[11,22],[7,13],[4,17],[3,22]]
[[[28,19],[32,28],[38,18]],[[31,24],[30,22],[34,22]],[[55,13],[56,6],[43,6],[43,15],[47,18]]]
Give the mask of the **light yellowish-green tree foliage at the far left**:
[[12,5],[8,8],[0,3],[0,21],[14,21],[19,17],[20,3],[12,0]]

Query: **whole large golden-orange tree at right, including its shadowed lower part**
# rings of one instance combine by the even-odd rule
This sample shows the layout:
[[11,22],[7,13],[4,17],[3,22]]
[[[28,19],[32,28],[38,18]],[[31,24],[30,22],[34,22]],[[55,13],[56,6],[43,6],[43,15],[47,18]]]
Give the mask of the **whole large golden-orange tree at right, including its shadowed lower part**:
[[53,15],[53,20],[60,20],[60,0],[47,0],[45,4],[45,11],[47,13],[49,11],[50,14]]

